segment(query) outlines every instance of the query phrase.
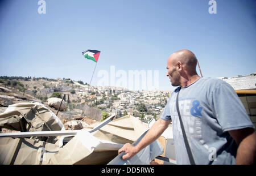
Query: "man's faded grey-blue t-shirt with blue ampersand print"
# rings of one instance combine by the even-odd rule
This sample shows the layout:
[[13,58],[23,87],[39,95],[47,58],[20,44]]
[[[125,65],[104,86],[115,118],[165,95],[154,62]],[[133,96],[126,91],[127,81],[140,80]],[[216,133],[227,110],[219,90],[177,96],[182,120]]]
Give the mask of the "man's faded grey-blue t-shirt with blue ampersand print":
[[177,164],[190,164],[176,110],[179,90],[181,119],[196,164],[235,164],[236,143],[228,131],[254,126],[234,89],[207,78],[175,89],[160,117],[172,120]]

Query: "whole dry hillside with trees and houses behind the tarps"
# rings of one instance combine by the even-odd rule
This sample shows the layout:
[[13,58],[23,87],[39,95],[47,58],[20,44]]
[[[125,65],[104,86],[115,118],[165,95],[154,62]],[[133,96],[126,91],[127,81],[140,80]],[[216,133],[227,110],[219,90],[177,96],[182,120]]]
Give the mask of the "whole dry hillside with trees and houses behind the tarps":
[[[2,99],[9,98],[13,104],[37,101],[48,106],[48,98],[53,95],[63,98],[65,95],[67,108],[59,111],[57,116],[68,121],[85,117],[101,121],[104,113],[115,113],[116,118],[132,114],[143,121],[149,121],[151,118],[159,118],[170,96],[169,91],[130,91],[120,87],[89,86],[69,78],[0,76],[0,87],[1,96],[10,96]],[[8,103],[0,103],[0,106],[8,106]],[[56,109],[50,109],[56,114]]]

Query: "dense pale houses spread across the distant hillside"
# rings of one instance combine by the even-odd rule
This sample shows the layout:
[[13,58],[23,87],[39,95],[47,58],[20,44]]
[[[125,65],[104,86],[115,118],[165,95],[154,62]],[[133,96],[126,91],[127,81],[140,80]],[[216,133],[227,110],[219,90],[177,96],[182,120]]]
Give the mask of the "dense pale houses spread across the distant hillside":
[[[107,113],[115,113],[117,117],[133,114],[135,117],[144,117],[147,120],[160,115],[170,96],[168,91],[130,91],[121,87],[89,86],[71,79],[19,81],[26,85],[26,93],[30,95],[36,90],[36,96],[49,98],[53,92],[60,92],[61,96],[66,95],[66,101],[69,96],[69,101],[75,108],[86,103]],[[139,110],[140,104],[144,104],[146,109]]]

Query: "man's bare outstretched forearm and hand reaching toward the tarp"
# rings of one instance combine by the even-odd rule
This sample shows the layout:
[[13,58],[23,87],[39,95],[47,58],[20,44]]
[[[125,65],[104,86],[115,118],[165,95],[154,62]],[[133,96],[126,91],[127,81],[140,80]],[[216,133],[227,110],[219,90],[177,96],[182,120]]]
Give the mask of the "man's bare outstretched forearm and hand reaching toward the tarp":
[[147,134],[142,138],[141,141],[136,146],[131,145],[130,143],[126,143],[123,145],[121,149],[119,149],[118,153],[125,152],[126,154],[123,155],[123,160],[133,157],[137,154],[141,149],[146,147],[147,145],[154,142],[159,136],[166,130],[170,121],[164,121],[163,119],[159,119],[154,123],[154,125],[148,130]]

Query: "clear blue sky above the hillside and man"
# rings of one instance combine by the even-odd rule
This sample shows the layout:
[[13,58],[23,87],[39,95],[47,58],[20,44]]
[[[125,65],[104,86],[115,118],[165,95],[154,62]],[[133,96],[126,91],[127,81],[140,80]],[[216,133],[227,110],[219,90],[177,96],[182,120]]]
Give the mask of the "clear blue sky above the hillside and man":
[[[95,62],[82,57],[100,50],[93,76],[115,70],[159,70],[159,89],[174,89],[166,76],[177,50],[196,54],[204,77],[256,71],[256,2],[208,0],[0,2],[0,75],[71,78],[89,83]],[[199,71],[197,71],[200,74]]]

